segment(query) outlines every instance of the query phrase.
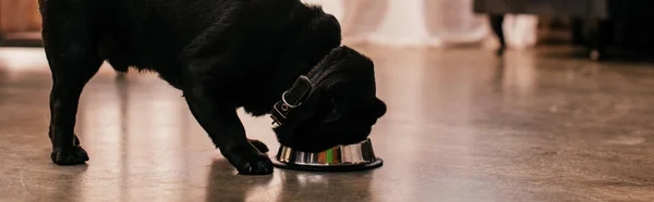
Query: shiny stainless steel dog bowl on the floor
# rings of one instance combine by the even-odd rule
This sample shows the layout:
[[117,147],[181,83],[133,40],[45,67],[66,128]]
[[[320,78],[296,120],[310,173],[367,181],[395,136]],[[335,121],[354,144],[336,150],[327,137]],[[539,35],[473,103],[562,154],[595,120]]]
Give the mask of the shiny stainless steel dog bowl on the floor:
[[375,156],[371,139],[365,141],[337,146],[331,149],[310,153],[281,146],[272,159],[277,167],[315,171],[315,172],[350,172],[370,169],[382,166],[382,159]]

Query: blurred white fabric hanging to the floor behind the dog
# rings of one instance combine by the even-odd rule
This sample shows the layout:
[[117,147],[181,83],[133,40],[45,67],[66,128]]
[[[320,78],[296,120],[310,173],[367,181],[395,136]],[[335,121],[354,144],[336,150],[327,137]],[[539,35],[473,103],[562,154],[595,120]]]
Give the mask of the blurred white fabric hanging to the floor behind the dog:
[[[303,0],[320,4],[339,18],[343,40],[399,47],[440,47],[484,42],[497,46],[486,15],[475,14],[472,0]],[[536,43],[537,17],[507,15],[509,48]],[[486,42],[487,43],[487,42]]]

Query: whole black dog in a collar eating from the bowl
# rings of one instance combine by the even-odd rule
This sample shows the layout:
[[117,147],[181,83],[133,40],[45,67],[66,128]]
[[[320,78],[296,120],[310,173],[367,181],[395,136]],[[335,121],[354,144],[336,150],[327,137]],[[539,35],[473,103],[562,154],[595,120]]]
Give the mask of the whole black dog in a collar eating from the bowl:
[[272,165],[266,146],[245,137],[238,108],[272,113],[280,143],[308,152],[365,140],[386,113],[373,62],[340,45],[332,15],[300,0],[39,0],[39,7],[53,79],[51,157],[59,165],[88,160],[73,128],[80,94],[104,61],[119,72],[156,72],[181,89],[241,174],[270,174]]

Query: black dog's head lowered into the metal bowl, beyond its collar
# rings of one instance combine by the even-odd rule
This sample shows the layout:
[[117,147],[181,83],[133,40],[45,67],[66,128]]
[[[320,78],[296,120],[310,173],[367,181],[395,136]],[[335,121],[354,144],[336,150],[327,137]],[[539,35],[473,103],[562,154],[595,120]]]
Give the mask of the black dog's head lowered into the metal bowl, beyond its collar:
[[319,152],[366,140],[386,113],[386,104],[376,97],[373,62],[353,49],[339,47],[324,58],[311,79],[311,94],[275,128],[279,142]]

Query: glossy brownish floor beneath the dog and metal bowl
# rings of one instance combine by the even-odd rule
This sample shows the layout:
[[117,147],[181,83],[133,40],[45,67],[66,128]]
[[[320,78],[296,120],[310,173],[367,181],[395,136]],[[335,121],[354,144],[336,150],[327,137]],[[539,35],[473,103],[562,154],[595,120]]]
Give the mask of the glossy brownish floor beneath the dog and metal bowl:
[[[109,67],[80,105],[90,161],[56,166],[43,50],[0,49],[0,201],[654,201],[654,65],[565,48],[505,60],[358,48],[376,61],[389,106],[372,135],[385,165],[271,176],[237,175],[178,90]],[[276,151],[270,121],[241,114]]]

